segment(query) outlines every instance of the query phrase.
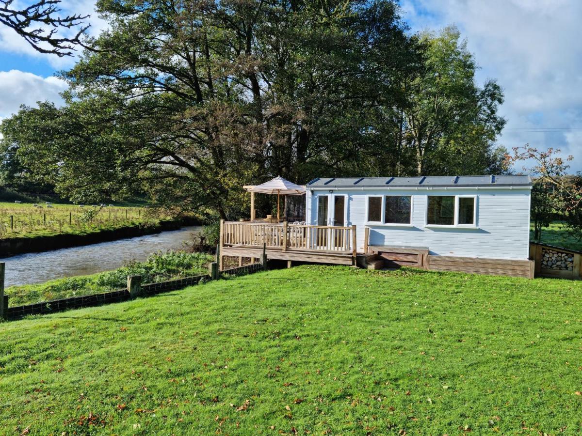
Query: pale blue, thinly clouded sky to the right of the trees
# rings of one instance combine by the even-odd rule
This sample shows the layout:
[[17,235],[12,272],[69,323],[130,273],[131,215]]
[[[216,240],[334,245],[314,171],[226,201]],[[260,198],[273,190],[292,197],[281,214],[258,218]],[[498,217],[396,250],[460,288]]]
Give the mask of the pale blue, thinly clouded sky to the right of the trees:
[[582,2],[579,0],[403,0],[414,31],[456,24],[481,66],[496,78],[508,119],[500,143],[561,148],[582,170],[582,133],[512,132],[582,127]]

